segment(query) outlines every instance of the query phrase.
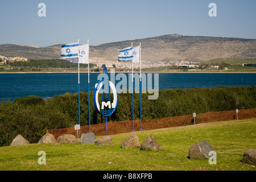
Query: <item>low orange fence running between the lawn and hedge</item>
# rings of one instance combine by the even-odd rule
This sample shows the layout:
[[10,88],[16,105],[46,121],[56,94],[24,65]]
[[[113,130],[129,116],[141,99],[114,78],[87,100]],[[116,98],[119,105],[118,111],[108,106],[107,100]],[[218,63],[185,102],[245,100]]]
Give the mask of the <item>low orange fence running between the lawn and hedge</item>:
[[[196,124],[217,122],[217,121],[230,121],[230,120],[237,121],[237,115],[239,120],[256,118],[256,109],[239,110],[238,114],[236,113],[236,110],[201,113],[201,114],[196,114],[195,121],[196,121]],[[186,125],[195,125],[193,114],[160,118],[160,119],[145,119],[142,121],[142,130],[163,129],[167,127],[177,127],[177,126],[186,126]],[[139,131],[140,128],[141,128],[141,121],[139,119],[134,120],[134,130]],[[108,135],[129,133],[131,132],[131,130],[133,130],[133,121],[108,122]],[[88,132],[89,132],[88,125],[80,127],[80,135]],[[94,133],[96,136],[106,135],[106,124],[100,123],[96,125],[90,125],[90,132]],[[77,136],[77,130],[75,130],[75,127],[47,130],[47,133],[54,135],[55,138],[63,134],[72,134]]]

